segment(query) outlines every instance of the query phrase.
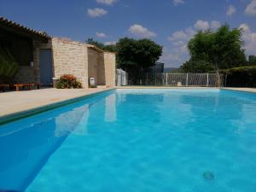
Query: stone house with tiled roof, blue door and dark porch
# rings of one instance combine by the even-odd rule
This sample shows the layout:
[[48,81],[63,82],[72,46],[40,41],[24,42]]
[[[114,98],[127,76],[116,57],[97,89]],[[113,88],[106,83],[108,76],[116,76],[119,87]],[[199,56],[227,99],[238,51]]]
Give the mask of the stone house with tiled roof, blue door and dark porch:
[[73,74],[84,88],[89,79],[97,85],[115,86],[115,54],[67,38],[50,38],[0,17],[0,48],[8,48],[19,63],[16,83],[51,85],[53,78]]

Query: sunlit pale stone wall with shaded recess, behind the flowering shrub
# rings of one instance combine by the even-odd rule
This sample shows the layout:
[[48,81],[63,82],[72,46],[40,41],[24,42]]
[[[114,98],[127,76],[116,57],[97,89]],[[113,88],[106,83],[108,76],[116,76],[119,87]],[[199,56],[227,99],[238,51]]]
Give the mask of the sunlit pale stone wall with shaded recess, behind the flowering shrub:
[[63,38],[52,38],[52,52],[55,78],[60,78],[62,74],[73,74],[84,88],[90,86],[90,78],[95,78],[98,85],[115,85],[113,53],[104,53],[89,44]]

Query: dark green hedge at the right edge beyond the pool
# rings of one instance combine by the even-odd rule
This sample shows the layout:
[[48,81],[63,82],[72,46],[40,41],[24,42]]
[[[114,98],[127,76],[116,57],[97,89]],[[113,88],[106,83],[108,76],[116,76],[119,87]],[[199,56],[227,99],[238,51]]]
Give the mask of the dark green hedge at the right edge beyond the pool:
[[256,67],[234,67],[223,70],[230,87],[256,87]]

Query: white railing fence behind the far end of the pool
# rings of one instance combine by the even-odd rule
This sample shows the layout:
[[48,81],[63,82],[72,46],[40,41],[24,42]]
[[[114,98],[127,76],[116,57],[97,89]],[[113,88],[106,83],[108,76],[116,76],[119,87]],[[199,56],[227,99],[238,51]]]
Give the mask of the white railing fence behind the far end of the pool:
[[[139,79],[139,85],[214,87],[217,84],[216,73],[144,73]],[[220,74],[221,86],[225,86],[225,81],[226,76]]]

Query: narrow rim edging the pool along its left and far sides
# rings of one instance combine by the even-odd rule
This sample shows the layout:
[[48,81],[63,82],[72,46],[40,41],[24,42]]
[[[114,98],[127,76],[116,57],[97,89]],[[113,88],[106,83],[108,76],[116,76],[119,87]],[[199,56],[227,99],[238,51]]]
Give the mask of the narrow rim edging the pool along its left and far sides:
[[[51,103],[42,104],[37,107],[32,108],[21,108],[20,111],[15,113],[6,113],[4,115],[0,116],[0,125],[9,123],[11,121],[26,118],[27,116],[31,116],[36,113],[42,113],[44,111],[48,111],[53,108],[59,108],[61,106],[78,102],[79,100],[82,100],[89,96],[94,96],[96,94],[100,94],[102,92],[108,91],[108,90],[116,90],[116,89],[214,89],[214,87],[160,87],[160,86],[117,86],[114,88],[108,88],[104,90],[96,90],[94,92],[86,92],[83,95],[80,96],[73,96],[70,98],[62,99],[61,101],[52,101]],[[218,88],[215,88],[218,89]],[[244,91],[244,92],[250,92],[250,93],[256,93],[256,89],[254,88],[220,88],[220,90],[236,90],[236,91]]]

